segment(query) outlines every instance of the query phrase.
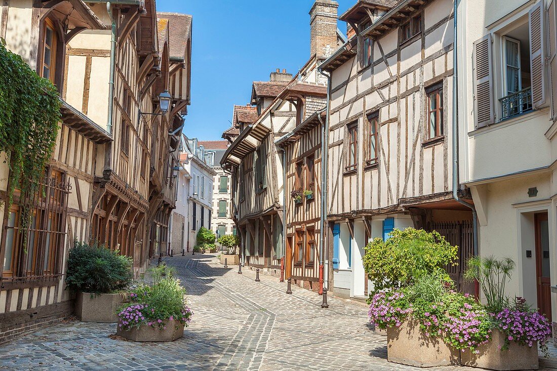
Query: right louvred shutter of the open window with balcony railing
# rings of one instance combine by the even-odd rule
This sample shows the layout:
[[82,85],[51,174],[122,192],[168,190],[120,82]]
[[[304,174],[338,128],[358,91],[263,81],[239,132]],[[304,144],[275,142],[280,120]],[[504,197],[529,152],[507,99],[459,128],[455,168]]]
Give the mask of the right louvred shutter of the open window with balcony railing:
[[532,105],[539,108],[545,103],[545,53],[543,1],[536,3],[528,14],[530,25],[530,74],[532,79]]

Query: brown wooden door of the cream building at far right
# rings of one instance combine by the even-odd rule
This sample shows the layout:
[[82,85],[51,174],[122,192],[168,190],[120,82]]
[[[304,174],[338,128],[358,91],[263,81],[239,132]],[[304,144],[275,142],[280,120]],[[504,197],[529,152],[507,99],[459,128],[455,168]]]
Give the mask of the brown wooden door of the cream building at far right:
[[535,214],[536,225],[536,278],[538,283],[538,308],[551,322],[551,284],[549,269],[548,213]]

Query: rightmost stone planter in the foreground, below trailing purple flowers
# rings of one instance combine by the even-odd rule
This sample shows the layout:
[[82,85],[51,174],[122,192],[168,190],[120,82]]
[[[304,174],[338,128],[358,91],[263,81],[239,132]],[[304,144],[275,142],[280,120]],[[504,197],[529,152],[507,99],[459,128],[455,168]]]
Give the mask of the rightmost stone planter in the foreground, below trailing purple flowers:
[[511,341],[509,350],[501,350],[498,346],[505,344],[505,334],[493,330],[491,341],[478,346],[479,354],[461,352],[463,366],[480,367],[490,370],[537,370],[538,342],[532,347]]

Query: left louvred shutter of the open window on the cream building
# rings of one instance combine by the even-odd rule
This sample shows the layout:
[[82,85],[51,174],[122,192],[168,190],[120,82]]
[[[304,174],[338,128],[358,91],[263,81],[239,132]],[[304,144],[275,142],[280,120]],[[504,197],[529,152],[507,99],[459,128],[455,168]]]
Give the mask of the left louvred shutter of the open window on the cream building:
[[495,122],[491,33],[474,43],[473,81],[476,129]]

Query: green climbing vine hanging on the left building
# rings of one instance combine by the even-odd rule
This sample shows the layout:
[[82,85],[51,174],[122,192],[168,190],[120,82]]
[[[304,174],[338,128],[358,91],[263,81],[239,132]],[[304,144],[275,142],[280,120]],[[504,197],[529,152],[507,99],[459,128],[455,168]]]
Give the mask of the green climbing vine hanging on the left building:
[[0,41],[0,151],[10,170],[8,207],[13,202],[14,189],[21,189],[23,230],[30,220],[32,196],[55,146],[58,121],[60,100],[56,87]]

